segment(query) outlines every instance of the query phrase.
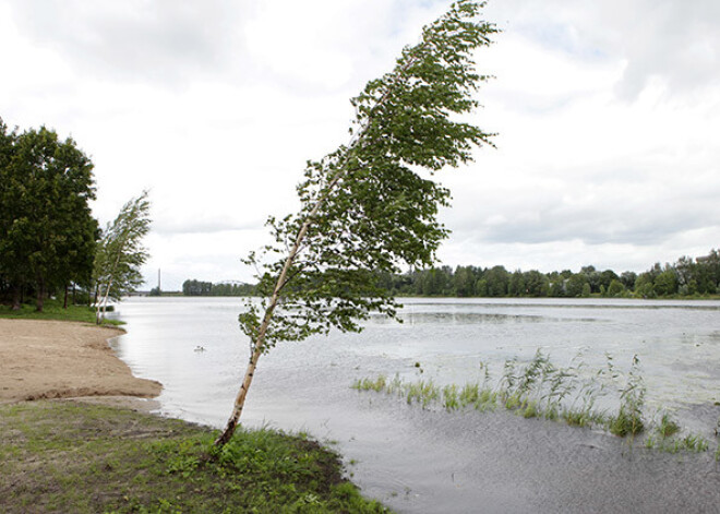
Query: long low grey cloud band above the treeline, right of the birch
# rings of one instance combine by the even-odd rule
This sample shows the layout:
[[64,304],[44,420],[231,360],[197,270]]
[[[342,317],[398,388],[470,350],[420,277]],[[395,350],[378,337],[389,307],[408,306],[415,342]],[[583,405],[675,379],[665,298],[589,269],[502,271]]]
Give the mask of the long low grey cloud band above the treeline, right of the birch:
[[[662,244],[692,230],[720,226],[720,181],[620,177],[622,170],[615,170],[593,183],[567,182],[554,189],[518,184],[509,195],[482,193],[471,217],[469,199],[464,198],[456,206],[465,214],[448,212],[446,224],[459,238],[492,243],[579,240],[636,246]],[[708,248],[712,244],[708,241]]]

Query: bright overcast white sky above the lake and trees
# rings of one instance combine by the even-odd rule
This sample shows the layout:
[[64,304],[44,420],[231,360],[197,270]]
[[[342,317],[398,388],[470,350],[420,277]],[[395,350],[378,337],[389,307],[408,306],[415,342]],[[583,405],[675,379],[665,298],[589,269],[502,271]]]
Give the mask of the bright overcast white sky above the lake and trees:
[[[245,279],[348,99],[446,0],[0,0],[0,117],[72,135],[103,225],[151,190],[148,286]],[[437,175],[444,264],[640,272],[720,247],[720,2],[493,0],[476,115]]]

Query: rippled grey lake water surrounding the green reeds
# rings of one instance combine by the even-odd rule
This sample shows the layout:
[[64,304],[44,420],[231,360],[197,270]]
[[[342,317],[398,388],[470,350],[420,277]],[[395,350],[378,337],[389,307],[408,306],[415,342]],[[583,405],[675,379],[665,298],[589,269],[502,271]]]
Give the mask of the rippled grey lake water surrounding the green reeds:
[[[679,468],[676,456],[658,452],[634,449],[628,457],[626,442],[597,431],[503,411],[423,410],[350,389],[377,374],[463,384],[482,378],[481,363],[499,379],[505,360],[527,361],[538,349],[559,366],[581,360],[589,373],[607,366],[607,354],[625,370],[637,355],[647,410],[668,408],[681,425],[713,439],[720,302],[404,303],[401,324],[373,318],[361,334],[281,344],[264,356],[242,422],[337,443],[363,491],[400,512],[603,512],[633,501],[640,512],[671,512],[673,501],[720,501],[711,455],[686,456]],[[113,347],[135,375],[163,383],[161,413],[220,428],[249,358],[240,309],[237,298],[127,299],[116,315],[128,334]],[[197,346],[205,351],[194,351]],[[664,474],[669,481],[660,487]]]

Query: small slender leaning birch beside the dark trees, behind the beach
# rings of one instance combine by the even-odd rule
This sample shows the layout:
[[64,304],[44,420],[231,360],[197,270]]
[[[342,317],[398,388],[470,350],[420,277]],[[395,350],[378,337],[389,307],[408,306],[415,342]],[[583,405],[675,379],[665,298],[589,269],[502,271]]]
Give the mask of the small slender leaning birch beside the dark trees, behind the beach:
[[95,302],[97,323],[105,319],[108,300],[120,300],[123,292],[143,283],[140,266],[149,258],[143,246],[151,227],[149,207],[147,191],[143,191],[122,206],[103,232],[93,272],[99,296]]

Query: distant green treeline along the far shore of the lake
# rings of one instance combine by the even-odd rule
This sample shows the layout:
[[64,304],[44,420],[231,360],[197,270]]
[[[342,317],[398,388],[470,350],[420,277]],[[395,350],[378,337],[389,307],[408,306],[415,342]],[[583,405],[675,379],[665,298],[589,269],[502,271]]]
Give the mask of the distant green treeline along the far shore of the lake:
[[[541,273],[536,270],[507,271],[504,266],[451,266],[413,271],[401,275],[379,274],[380,285],[396,296],[427,297],[555,297],[578,298],[659,298],[706,296],[720,292],[720,253],[707,256],[683,256],[674,264],[656,263],[639,275],[585,266],[578,273],[569,270]],[[212,284],[185,280],[188,296],[252,296],[251,284]]]

